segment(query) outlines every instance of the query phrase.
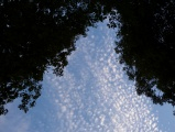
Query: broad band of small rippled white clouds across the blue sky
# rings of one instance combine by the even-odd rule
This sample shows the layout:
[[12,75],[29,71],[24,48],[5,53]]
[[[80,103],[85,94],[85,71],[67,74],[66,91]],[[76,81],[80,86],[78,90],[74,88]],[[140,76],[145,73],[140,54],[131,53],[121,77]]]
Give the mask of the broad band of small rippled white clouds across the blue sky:
[[64,77],[50,74],[51,102],[66,132],[158,132],[150,101],[138,96],[113,51],[114,32],[100,23],[77,42]]

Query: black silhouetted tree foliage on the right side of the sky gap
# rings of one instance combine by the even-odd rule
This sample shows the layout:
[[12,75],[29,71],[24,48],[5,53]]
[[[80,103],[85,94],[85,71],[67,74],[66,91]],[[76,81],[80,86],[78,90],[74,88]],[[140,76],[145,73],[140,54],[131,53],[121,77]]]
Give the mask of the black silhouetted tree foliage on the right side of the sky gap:
[[175,2],[123,0],[116,52],[139,95],[175,106]]

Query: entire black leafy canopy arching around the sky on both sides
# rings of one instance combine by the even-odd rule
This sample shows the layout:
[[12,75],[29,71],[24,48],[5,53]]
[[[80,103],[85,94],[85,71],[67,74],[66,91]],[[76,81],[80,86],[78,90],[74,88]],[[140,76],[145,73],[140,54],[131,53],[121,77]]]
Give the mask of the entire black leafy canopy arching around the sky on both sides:
[[107,15],[136,92],[175,106],[174,0],[1,0],[0,114],[17,98],[21,110],[33,107],[47,68],[62,76],[75,41]]

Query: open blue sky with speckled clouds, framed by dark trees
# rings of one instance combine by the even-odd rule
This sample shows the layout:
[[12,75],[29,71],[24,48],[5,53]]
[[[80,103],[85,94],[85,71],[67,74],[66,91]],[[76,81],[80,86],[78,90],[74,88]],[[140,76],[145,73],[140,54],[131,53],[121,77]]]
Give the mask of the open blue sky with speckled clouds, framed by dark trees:
[[89,28],[68,56],[64,76],[48,69],[42,96],[28,113],[9,103],[0,132],[173,132],[173,108],[138,96],[114,53],[116,30]]

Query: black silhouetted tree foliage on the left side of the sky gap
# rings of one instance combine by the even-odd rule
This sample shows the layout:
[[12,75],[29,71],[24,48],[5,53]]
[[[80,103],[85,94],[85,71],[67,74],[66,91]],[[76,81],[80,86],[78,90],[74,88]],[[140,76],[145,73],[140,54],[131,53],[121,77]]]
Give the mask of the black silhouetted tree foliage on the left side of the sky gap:
[[80,0],[0,2],[0,114],[17,98],[24,112],[35,106],[44,72],[63,75],[75,41],[105,18],[100,10]]

